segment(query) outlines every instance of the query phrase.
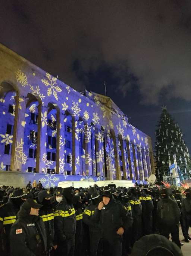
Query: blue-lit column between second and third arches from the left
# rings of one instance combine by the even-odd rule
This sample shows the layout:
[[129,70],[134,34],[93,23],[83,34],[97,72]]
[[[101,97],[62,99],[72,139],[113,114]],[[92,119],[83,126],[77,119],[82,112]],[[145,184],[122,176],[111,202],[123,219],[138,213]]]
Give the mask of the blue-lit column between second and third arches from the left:
[[50,168],[50,162],[47,160],[47,107],[38,105],[38,136],[37,136],[37,162],[36,172],[46,173],[46,168]]

